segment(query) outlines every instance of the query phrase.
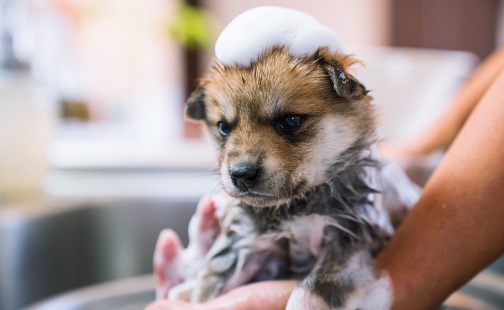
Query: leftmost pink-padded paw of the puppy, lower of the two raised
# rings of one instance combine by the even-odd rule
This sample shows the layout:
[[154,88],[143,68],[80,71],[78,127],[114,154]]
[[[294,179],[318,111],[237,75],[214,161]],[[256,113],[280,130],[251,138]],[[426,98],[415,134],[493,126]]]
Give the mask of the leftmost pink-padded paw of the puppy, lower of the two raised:
[[182,243],[172,229],[164,229],[157,238],[154,251],[156,298],[165,299],[168,291],[184,280],[177,268],[182,254]]

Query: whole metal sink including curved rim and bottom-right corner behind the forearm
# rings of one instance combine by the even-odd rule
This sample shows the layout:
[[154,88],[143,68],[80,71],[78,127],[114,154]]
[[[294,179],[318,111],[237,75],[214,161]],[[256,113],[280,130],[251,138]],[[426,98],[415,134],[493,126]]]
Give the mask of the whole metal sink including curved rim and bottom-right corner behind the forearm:
[[[64,203],[0,210],[1,310],[137,310],[155,298],[159,231],[187,244],[197,198]],[[504,309],[504,258],[457,291],[443,310]]]

